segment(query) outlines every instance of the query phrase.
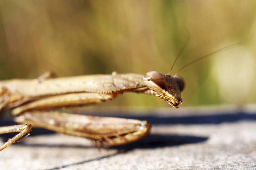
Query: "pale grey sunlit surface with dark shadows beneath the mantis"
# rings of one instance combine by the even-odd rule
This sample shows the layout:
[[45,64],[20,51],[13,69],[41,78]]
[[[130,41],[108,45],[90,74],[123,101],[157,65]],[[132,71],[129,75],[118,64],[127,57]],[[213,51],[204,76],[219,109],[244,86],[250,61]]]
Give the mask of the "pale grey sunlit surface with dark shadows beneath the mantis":
[[0,152],[0,169],[256,169],[255,106],[184,108],[173,113],[163,108],[121,117],[148,120],[151,134],[99,151],[84,138],[33,130]]

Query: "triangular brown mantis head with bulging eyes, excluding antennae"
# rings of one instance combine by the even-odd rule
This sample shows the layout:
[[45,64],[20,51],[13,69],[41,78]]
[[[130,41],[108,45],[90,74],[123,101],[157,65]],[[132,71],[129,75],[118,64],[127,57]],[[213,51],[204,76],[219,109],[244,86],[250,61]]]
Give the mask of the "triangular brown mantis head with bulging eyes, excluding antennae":
[[173,108],[180,107],[179,105],[182,103],[180,93],[185,87],[183,78],[151,71],[144,75],[143,80],[158,98],[165,100]]

